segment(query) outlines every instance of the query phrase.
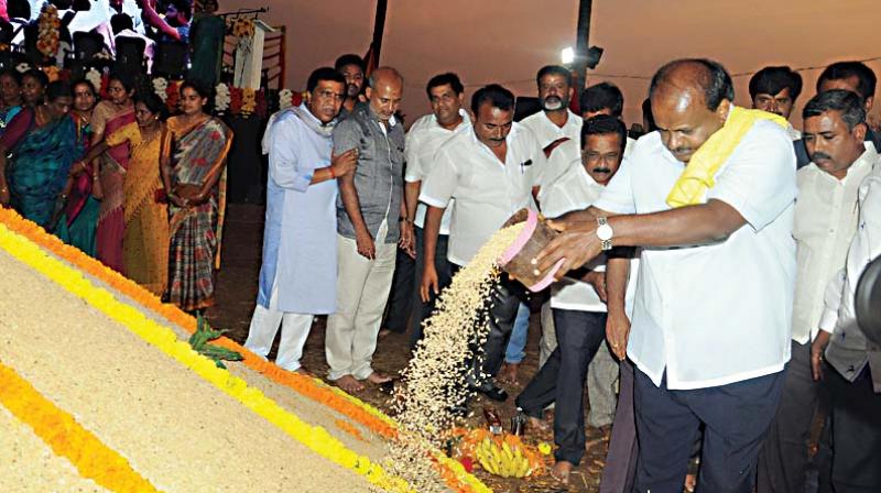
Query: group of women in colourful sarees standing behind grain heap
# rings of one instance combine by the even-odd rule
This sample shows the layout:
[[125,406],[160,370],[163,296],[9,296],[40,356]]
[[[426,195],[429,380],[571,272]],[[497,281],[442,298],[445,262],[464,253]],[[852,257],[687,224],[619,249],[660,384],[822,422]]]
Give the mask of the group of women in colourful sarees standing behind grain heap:
[[111,75],[0,73],[0,205],[185,310],[214,303],[232,132],[208,90],[181,85],[177,116]]

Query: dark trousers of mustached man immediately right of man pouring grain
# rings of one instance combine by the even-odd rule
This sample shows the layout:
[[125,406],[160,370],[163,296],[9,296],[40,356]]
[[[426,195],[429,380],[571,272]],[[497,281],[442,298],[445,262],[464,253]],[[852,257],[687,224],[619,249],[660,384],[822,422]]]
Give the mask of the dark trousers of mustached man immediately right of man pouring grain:
[[822,393],[811,373],[811,342],[792,341],[780,407],[759,453],[758,493],[804,493],[811,425]]

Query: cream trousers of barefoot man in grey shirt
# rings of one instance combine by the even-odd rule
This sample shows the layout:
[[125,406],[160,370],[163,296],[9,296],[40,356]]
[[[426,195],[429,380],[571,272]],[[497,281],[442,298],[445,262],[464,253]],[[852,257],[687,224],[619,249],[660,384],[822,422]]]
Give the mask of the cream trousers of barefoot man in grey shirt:
[[337,311],[327,318],[325,335],[329,380],[346,375],[365,380],[373,373],[371,362],[398,253],[396,243],[384,243],[388,231],[383,221],[373,260],[358,253],[355,240],[337,238]]

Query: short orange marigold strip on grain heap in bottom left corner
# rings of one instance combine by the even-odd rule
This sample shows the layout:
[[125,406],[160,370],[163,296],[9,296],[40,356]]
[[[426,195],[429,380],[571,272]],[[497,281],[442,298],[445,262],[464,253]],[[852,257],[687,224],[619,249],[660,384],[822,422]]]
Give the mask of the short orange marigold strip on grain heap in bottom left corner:
[[129,461],[1,362],[0,382],[0,404],[30,426],[56,454],[67,458],[83,478],[111,491],[159,491]]

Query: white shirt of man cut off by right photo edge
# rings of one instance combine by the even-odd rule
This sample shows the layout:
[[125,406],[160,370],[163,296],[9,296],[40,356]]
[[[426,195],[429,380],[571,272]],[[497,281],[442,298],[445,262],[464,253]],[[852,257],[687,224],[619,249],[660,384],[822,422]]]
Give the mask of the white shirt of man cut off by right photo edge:
[[826,306],[819,322],[820,329],[833,333],[826,350],[827,360],[850,381],[862,372],[869,360],[866,336],[857,326],[853,296],[862,271],[872,260],[881,255],[881,165],[879,164],[875,164],[860,185],[859,209],[857,233],[850,243],[847,262],[826,288]]

